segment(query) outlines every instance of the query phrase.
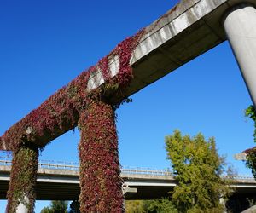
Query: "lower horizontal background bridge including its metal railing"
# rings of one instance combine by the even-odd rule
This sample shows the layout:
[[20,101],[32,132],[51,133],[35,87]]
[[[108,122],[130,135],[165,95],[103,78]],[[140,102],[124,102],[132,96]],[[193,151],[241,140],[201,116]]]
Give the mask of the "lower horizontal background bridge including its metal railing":
[[[0,159],[0,199],[8,191],[10,159]],[[168,195],[177,181],[170,170],[149,168],[122,168],[125,199],[159,199]],[[236,176],[231,185],[236,195],[250,197],[256,194],[256,181],[252,176]],[[75,200],[79,198],[79,165],[40,162],[36,186],[37,200]]]

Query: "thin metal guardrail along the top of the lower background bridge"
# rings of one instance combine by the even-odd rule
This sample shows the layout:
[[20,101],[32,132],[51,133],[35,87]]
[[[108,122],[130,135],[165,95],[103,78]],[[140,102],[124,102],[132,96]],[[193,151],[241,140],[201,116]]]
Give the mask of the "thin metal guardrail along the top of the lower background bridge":
[[[0,165],[11,166],[12,158],[0,156]],[[52,161],[52,160],[40,160],[38,163],[38,168],[41,169],[52,169],[52,170],[79,170],[79,163],[74,162],[63,162],[63,161]],[[157,170],[152,168],[142,168],[142,167],[128,167],[122,166],[121,172],[123,174],[138,174],[138,175],[151,175],[151,176],[172,176],[172,171],[167,170]],[[226,177],[226,176],[222,176]],[[249,180],[254,179],[253,176],[233,176],[235,180]]]

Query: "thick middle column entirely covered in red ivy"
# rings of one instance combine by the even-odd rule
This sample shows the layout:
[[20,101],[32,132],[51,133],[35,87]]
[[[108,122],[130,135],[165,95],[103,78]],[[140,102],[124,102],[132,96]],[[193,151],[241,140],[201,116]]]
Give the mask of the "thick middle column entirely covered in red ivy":
[[81,212],[124,212],[113,107],[90,101],[80,115]]

